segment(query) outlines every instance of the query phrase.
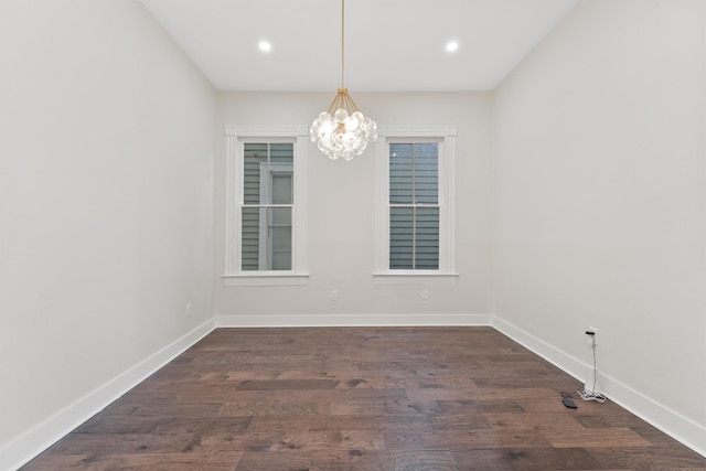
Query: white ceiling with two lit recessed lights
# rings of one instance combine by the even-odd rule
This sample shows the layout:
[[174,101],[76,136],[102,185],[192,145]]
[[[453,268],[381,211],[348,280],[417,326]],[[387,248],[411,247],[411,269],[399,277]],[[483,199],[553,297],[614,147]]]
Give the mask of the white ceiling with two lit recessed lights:
[[[351,92],[493,89],[579,0],[349,0]],[[223,90],[341,85],[340,0],[142,0]],[[263,53],[258,43],[272,49]],[[447,42],[459,49],[448,53]]]

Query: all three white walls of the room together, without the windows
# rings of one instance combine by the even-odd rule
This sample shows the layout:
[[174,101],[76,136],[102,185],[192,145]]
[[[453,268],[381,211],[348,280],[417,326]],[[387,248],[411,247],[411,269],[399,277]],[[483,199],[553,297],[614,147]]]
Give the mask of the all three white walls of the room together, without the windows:
[[591,325],[603,390],[699,449],[704,10],[585,1],[495,94],[352,90],[379,125],[458,126],[457,283],[375,285],[374,153],[332,162],[312,144],[309,285],[235,288],[221,281],[223,127],[309,126],[334,90],[216,97],[136,1],[0,2],[0,469],[214,311],[236,324],[495,312],[580,377]]

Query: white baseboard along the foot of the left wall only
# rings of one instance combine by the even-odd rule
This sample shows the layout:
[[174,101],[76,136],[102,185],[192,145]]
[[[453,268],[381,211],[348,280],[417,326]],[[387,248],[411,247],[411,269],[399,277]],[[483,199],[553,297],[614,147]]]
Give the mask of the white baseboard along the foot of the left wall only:
[[214,319],[150,355],[0,448],[0,469],[15,470],[103,410],[215,329]]

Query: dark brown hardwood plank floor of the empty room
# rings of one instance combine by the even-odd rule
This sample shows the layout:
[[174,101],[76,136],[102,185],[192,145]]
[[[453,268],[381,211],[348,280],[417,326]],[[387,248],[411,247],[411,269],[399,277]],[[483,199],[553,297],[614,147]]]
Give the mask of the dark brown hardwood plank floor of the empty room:
[[22,470],[706,470],[491,328],[220,329]]

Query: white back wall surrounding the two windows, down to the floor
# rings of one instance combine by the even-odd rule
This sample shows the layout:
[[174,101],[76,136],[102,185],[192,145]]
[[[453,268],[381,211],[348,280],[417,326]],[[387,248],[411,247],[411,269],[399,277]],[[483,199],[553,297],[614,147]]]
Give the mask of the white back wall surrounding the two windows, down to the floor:
[[[221,93],[225,125],[306,125],[325,109],[330,94]],[[490,250],[490,94],[351,95],[378,126],[458,126],[457,283],[378,286],[374,263],[374,146],[350,162],[309,148],[310,279],[303,287],[224,287],[224,158],[216,159],[216,313],[227,324],[342,324],[473,322],[492,312]],[[330,291],[339,291],[331,301]],[[429,300],[420,299],[420,290]],[[353,314],[353,315],[352,315]],[[445,315],[448,314],[448,315]],[[466,314],[471,314],[467,317]],[[490,319],[490,318],[485,318]]]

